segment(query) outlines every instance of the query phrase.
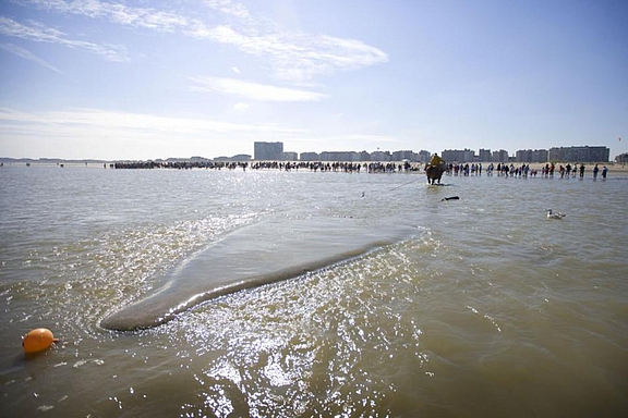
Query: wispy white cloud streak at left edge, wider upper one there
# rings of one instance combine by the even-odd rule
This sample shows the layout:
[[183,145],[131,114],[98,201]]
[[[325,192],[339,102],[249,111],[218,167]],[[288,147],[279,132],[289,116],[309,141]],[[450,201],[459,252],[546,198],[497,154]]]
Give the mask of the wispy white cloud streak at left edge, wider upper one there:
[[29,22],[29,25],[25,25],[15,22],[12,19],[0,16],[0,35],[34,40],[37,42],[58,44],[69,48],[81,48],[88,52],[98,54],[107,61],[130,61],[124,47],[65,39],[64,33],[33,21]]

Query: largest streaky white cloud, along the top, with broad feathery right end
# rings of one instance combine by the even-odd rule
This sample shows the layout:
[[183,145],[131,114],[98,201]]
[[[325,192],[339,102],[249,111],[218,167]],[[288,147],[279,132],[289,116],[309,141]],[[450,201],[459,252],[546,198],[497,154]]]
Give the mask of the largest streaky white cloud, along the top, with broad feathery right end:
[[[249,10],[230,0],[205,0],[224,16],[235,17],[240,28],[229,24],[208,26],[198,19],[149,8],[132,8],[98,0],[19,0],[39,9],[108,20],[112,23],[158,32],[174,32],[237,47],[240,51],[266,58],[278,78],[304,83],[317,75],[358,70],[388,61],[386,52],[358,39],[337,38],[302,32],[282,33],[255,20]],[[270,29],[269,29],[270,27]]]

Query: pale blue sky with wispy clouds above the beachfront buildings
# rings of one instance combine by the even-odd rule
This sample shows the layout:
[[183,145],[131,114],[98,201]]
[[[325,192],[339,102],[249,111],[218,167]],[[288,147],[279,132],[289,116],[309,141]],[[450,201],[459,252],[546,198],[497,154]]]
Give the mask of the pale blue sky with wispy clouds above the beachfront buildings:
[[628,1],[0,1],[0,157],[215,158],[254,142],[614,158]]

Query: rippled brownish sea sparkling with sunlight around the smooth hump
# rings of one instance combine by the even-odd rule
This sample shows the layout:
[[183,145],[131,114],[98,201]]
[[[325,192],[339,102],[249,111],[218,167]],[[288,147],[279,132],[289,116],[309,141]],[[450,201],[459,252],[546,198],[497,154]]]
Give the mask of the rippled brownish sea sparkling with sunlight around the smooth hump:
[[[0,415],[626,416],[628,179],[443,183],[0,168]],[[339,219],[364,222],[357,239],[369,224],[404,232],[157,328],[100,328],[214,243],[278,217],[316,217],[317,231],[295,231],[303,254]],[[39,327],[61,341],[26,356],[22,335]]]

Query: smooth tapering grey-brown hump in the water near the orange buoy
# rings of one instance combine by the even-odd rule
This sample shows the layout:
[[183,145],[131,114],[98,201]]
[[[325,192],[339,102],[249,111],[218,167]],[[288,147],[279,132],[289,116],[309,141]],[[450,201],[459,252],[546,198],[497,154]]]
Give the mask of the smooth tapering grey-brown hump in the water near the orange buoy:
[[244,288],[295,278],[409,237],[415,228],[350,217],[276,217],[241,228],[166,274],[153,295],[106,317],[100,327],[158,327],[194,306]]

